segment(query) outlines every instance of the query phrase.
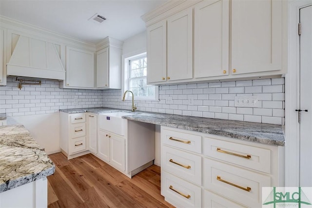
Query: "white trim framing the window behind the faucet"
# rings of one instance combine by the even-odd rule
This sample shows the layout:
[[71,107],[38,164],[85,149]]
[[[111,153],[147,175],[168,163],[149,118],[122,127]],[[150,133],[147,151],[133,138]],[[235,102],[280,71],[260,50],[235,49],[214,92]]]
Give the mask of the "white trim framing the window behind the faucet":
[[[128,80],[126,81],[125,78],[128,77],[128,62],[130,59],[133,59],[134,57],[138,57],[138,56],[143,56],[144,54],[146,54],[146,49],[140,49],[128,54],[124,54],[121,56],[122,58],[122,73],[121,73],[121,99],[123,97],[123,93],[128,90],[128,86],[129,84],[127,84],[127,86],[125,86],[126,82],[129,82]],[[148,67],[148,61],[147,61],[147,67]],[[132,96],[130,96],[130,93],[127,93],[126,95],[126,99],[125,100],[132,100]],[[155,86],[155,97],[154,98],[144,98],[144,97],[135,97],[135,101],[159,101],[159,87]]]

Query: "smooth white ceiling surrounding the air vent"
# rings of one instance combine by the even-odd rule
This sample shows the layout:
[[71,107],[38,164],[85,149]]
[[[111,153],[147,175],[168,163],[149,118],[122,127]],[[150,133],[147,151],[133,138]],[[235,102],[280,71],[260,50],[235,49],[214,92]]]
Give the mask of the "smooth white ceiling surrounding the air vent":
[[[141,16],[168,0],[0,0],[0,15],[98,43],[103,38],[124,41],[142,31]],[[95,13],[102,23],[88,21]]]

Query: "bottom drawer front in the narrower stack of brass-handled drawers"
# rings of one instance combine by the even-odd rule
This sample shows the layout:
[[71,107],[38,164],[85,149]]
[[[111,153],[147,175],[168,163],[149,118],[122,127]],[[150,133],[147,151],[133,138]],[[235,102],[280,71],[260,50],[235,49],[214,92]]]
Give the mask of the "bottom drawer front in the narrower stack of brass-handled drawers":
[[161,171],[161,194],[165,200],[179,208],[201,207],[201,187],[177,178],[166,171]]

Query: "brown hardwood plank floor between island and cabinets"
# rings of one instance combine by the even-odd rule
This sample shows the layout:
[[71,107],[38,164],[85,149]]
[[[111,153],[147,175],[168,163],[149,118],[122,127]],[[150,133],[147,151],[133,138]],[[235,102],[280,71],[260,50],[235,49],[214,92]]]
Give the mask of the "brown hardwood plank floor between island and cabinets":
[[49,158],[56,171],[47,177],[48,208],[173,208],[160,195],[159,166],[130,179],[92,154]]

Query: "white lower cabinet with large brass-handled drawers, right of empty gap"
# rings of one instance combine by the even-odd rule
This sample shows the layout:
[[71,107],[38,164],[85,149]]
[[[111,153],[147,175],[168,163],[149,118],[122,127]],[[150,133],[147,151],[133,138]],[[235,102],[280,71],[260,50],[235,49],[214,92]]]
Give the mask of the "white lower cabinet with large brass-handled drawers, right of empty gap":
[[284,186],[283,154],[281,146],[161,126],[161,194],[176,207],[261,207],[262,187]]

